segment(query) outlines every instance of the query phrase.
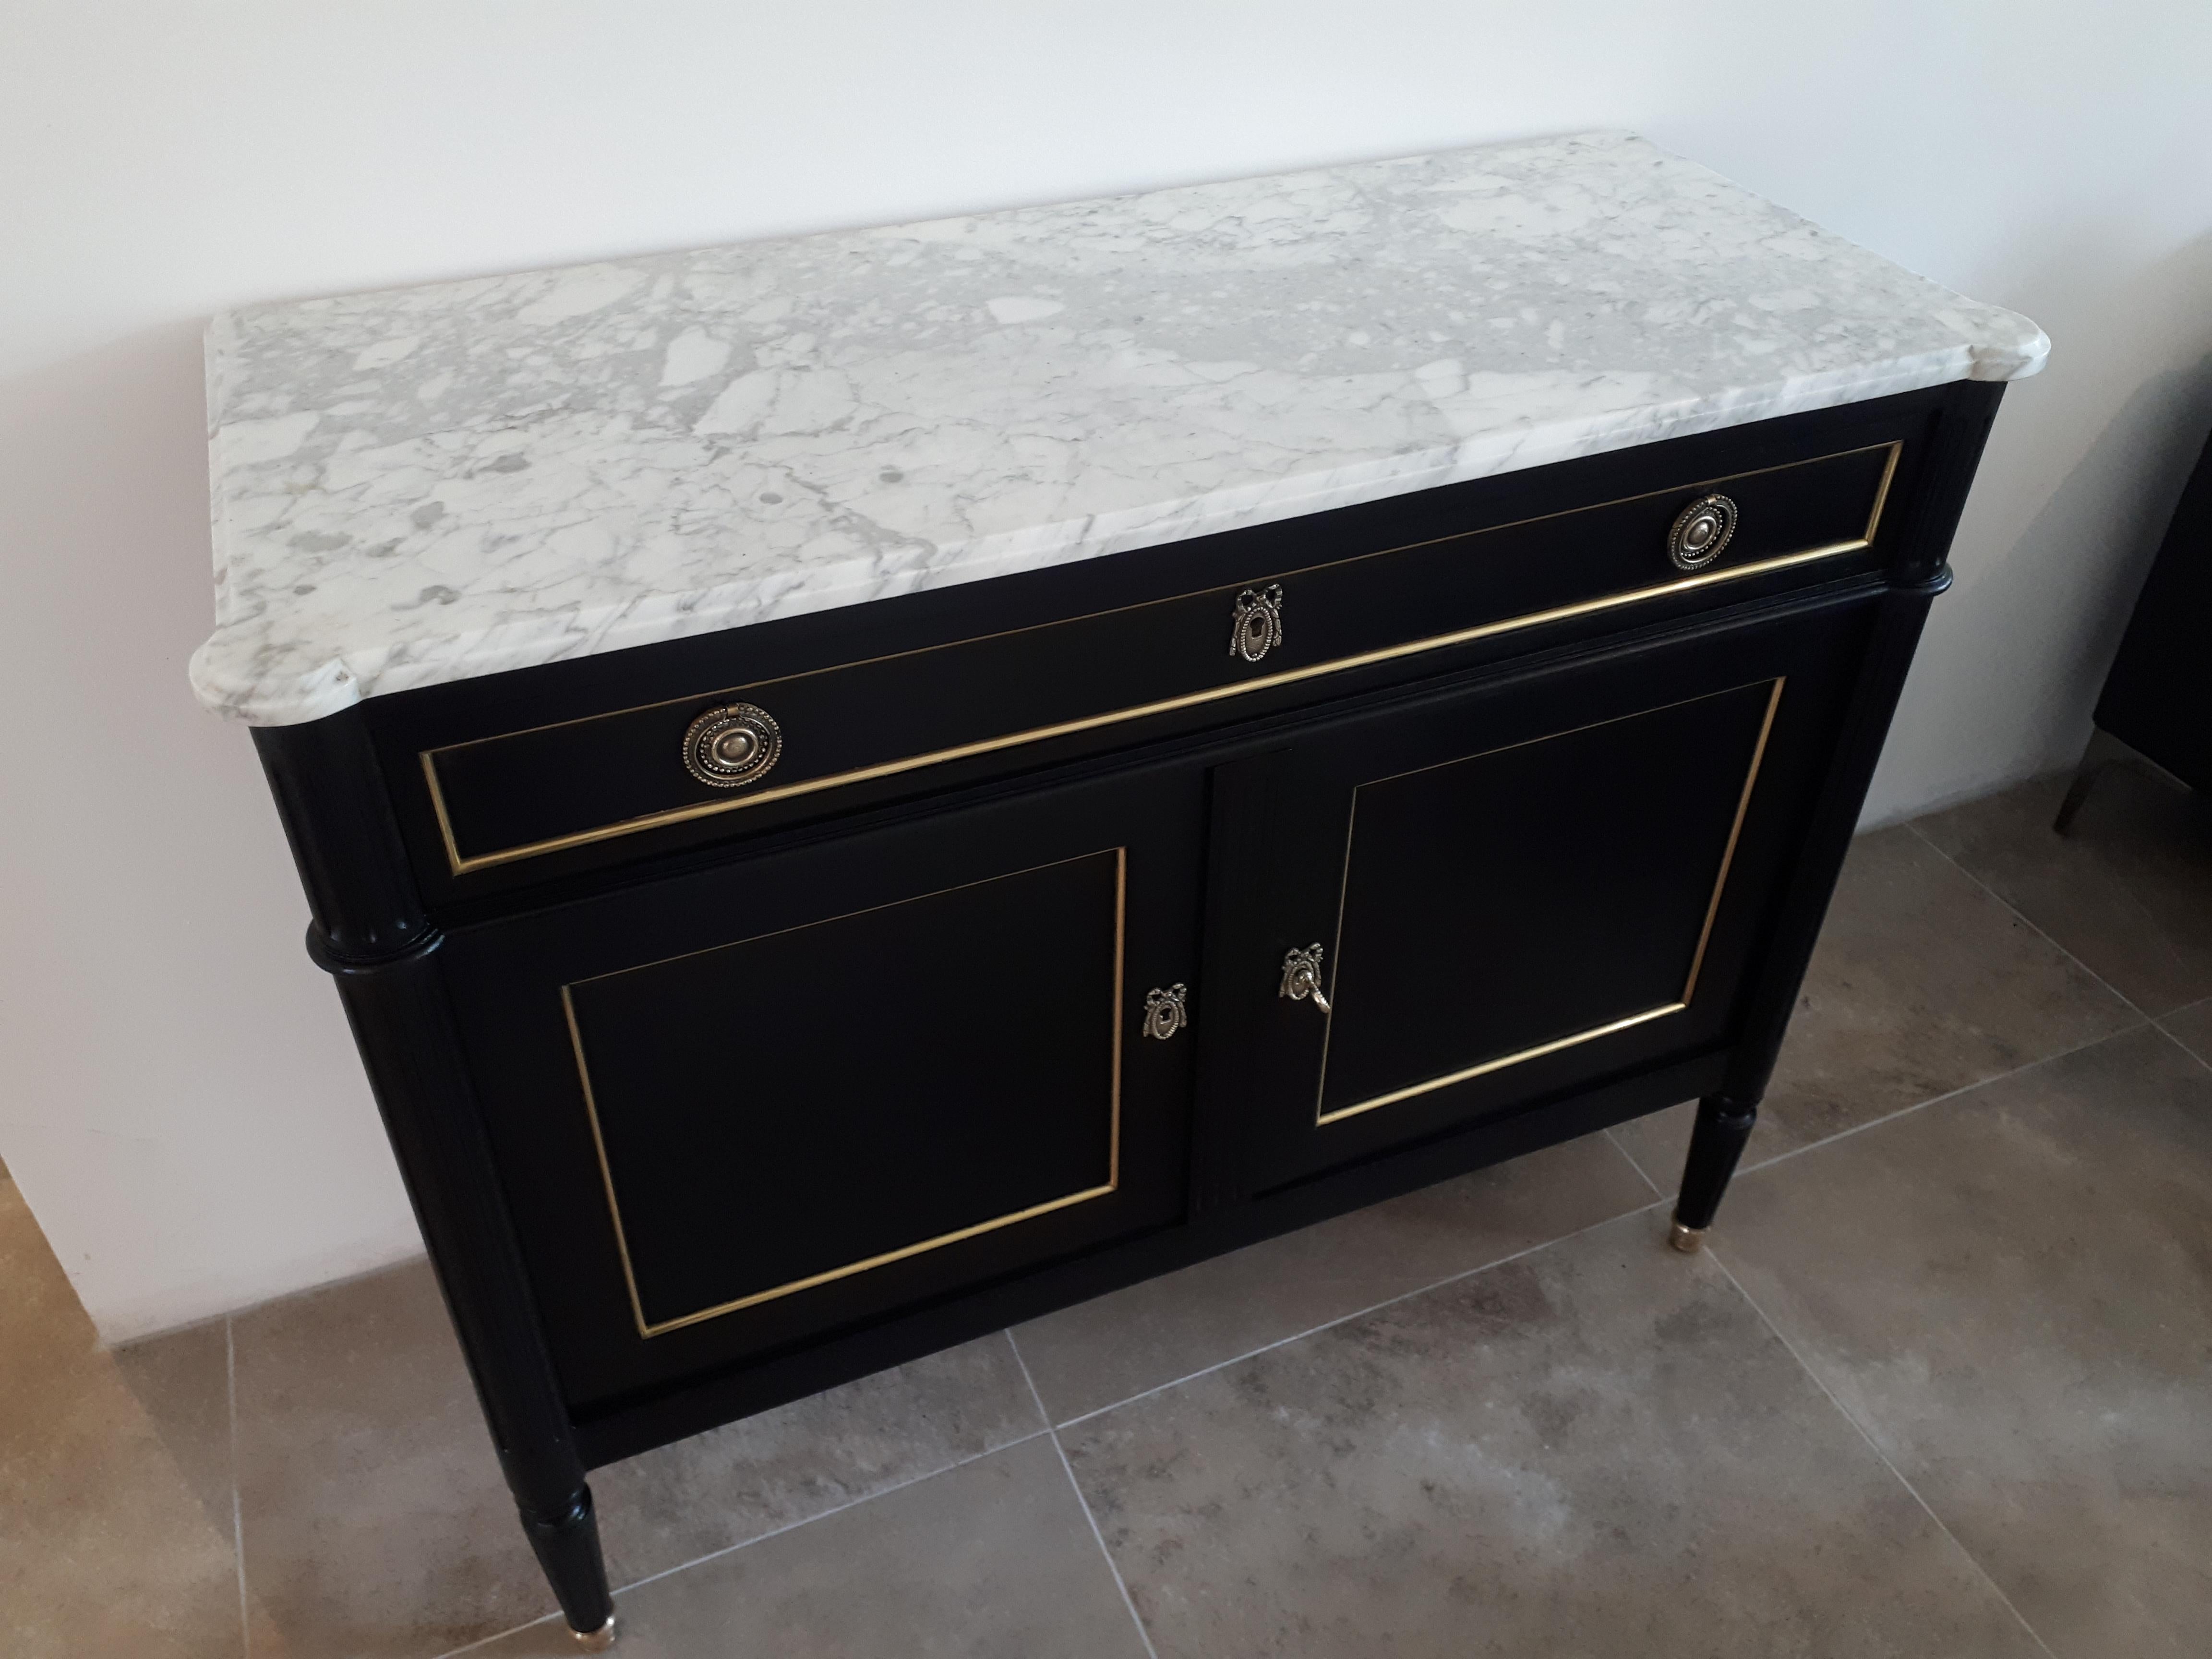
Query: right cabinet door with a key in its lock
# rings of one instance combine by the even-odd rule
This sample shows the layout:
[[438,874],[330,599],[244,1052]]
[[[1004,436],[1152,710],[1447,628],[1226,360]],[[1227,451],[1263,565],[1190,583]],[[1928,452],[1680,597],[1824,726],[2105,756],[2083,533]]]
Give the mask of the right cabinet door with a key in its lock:
[[1869,619],[1705,630],[1223,768],[1203,1110],[1241,1126],[1241,1186],[1728,1042]]

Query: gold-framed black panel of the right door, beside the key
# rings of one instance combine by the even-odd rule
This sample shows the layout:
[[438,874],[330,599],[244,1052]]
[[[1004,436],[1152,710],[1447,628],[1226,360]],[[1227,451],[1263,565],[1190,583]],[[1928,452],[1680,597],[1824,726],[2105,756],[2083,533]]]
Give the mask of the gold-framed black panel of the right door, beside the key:
[[1354,787],[1316,1119],[1688,1006],[1781,692]]

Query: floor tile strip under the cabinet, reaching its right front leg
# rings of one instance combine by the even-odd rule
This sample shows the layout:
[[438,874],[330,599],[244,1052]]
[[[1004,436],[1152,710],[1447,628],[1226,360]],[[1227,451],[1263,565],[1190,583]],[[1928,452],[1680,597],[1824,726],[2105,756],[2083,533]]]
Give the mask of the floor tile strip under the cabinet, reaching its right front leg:
[[1046,1314],[1015,1343],[1055,1422],[1652,1201],[1604,1135]]

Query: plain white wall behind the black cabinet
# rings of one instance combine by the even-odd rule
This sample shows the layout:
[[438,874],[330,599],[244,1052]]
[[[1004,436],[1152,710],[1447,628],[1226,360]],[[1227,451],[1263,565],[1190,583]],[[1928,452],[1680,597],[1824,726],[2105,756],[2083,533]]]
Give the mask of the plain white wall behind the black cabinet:
[[416,1248],[246,732],[221,305],[1630,126],[2051,332],[1869,812],[2070,759],[2212,422],[2203,0],[0,0],[0,1157],[111,1338]]

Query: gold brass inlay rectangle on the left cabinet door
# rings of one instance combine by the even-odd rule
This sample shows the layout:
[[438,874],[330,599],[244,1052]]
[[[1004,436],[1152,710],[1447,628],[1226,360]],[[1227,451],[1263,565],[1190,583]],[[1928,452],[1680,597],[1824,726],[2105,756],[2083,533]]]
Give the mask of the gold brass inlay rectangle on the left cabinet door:
[[686,1325],[699,1325],[708,1318],[721,1318],[723,1314],[734,1314],[741,1307],[754,1307],[765,1301],[776,1301],[779,1296],[792,1296],[801,1290],[814,1290],[816,1285],[827,1285],[836,1279],[849,1279],[852,1274],[863,1274],[869,1267],[885,1267],[894,1261],[905,1261],[907,1256],[920,1256],[929,1250],[940,1250],[962,1239],[975,1239],[984,1232],[998,1232],[1000,1228],[1011,1228],[1018,1221],[1031,1221],[1040,1214],[1051,1214],[1053,1210],[1066,1210],[1075,1203],[1086,1203],[1088,1199],[1104,1199],[1106,1194],[1119,1190],[1121,1186],[1121,958],[1128,933],[1128,847],[1102,847],[1099,852],[1113,852],[1115,856],[1115,894],[1113,894],[1113,1048],[1108,1068],[1108,1128],[1106,1128],[1106,1183],[1091,1186],[1079,1192],[1066,1192],[1057,1199],[1046,1199],[1044,1203],[1031,1203],[1026,1210],[1011,1210],[1006,1214],[991,1217],[987,1221],[975,1221],[967,1228],[956,1228],[953,1232],[940,1232],[933,1239],[920,1239],[898,1250],[885,1250],[863,1261],[847,1261],[841,1267],[827,1267],[818,1274],[807,1274],[805,1279],[792,1279],[783,1285],[772,1285],[768,1290],[757,1290],[750,1296],[737,1296],[732,1301],[719,1303],[714,1307],[701,1307],[695,1314],[679,1314],[677,1318],[664,1318],[653,1323],[646,1318],[644,1298],[637,1294],[637,1270],[630,1263],[630,1241],[622,1225],[622,1201],[615,1197],[615,1170],[606,1157],[606,1137],[599,1130],[599,1102],[591,1088],[591,1064],[584,1060],[584,1031],[575,1018],[575,998],[571,991],[577,984],[591,984],[593,980],[613,980],[624,973],[641,973],[648,967],[659,967],[661,962],[681,962],[688,956],[708,956],[712,951],[730,949],[730,945],[752,945],[754,940],[776,938],[781,933],[801,933],[810,927],[827,927],[830,922],[843,922],[854,916],[869,916],[878,909],[891,909],[896,905],[914,905],[925,898],[940,898],[942,894],[958,894],[967,887],[982,887],[993,880],[1011,880],[1015,876],[1031,876],[1040,869],[1055,869],[1057,865],[1082,863],[1084,858],[1097,858],[1095,852],[1075,854],[1073,858],[1055,858],[1046,865],[1031,865],[1029,869],[1009,869],[1000,876],[984,876],[980,880],[964,880],[951,887],[938,887],[927,894],[914,894],[911,898],[894,898],[885,905],[867,905],[856,911],[843,911],[841,916],[823,916],[814,922],[799,922],[796,927],[779,927],[768,933],[754,933],[743,940],[728,940],[726,945],[708,945],[697,951],[677,951],[675,956],[664,956],[653,962],[637,962],[626,969],[615,969],[613,973],[593,973],[591,978],[575,980],[560,989],[562,1015],[568,1022],[568,1048],[575,1055],[575,1075],[584,1086],[584,1117],[591,1124],[591,1144],[599,1159],[599,1186],[606,1192],[606,1214],[615,1223],[615,1254],[622,1259],[622,1283],[630,1292],[630,1316],[637,1321],[639,1336],[661,1336],[664,1332],[684,1329]]

